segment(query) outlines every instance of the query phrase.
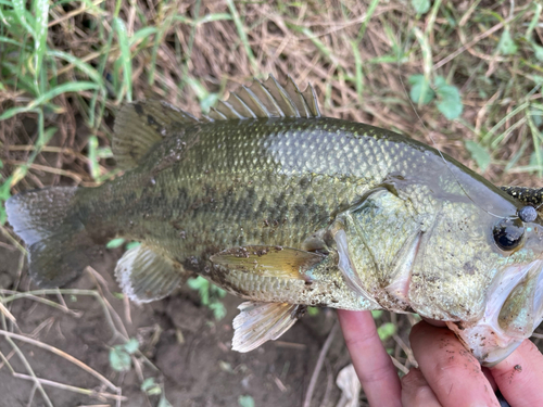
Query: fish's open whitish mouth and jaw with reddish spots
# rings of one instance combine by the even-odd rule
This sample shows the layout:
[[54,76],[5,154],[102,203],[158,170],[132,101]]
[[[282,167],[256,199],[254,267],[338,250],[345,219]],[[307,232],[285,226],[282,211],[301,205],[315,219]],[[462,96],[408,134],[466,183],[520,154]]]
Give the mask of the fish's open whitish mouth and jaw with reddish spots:
[[543,320],[542,269],[543,259],[506,267],[488,291],[482,318],[446,322],[483,366],[509,356]]

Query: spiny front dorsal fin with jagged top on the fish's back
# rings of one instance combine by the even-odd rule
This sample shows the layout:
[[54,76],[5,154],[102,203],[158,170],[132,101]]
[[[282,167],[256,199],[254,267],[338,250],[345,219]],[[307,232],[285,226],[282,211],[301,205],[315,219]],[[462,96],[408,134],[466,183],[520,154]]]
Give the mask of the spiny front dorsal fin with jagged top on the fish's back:
[[282,87],[273,75],[265,81],[254,79],[251,86],[231,93],[227,101],[220,101],[209,115],[212,120],[319,116],[317,97],[311,84],[302,92],[290,76]]

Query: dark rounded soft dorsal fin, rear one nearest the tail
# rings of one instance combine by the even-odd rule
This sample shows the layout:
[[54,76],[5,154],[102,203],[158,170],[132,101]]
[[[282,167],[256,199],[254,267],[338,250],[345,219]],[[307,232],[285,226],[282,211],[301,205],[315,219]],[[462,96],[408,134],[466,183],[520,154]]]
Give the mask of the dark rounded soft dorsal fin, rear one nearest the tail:
[[195,123],[199,119],[190,113],[164,101],[150,99],[124,105],[115,118],[112,143],[117,165],[134,168],[153,144],[176,128]]

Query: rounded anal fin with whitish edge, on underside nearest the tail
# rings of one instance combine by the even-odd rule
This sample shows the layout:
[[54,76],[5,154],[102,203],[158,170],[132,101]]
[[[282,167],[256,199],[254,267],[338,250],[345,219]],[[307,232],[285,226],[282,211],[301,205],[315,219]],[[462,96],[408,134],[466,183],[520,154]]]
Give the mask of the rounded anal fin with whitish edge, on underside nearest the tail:
[[141,244],[121,257],[115,277],[131,301],[149,303],[171,294],[190,275],[180,264]]

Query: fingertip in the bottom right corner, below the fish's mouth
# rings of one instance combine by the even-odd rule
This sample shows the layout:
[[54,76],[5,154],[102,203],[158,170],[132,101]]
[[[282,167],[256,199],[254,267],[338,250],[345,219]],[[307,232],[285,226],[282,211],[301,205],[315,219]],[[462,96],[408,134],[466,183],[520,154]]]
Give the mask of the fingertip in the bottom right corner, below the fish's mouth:
[[490,371],[513,407],[543,406],[543,355],[530,340]]

